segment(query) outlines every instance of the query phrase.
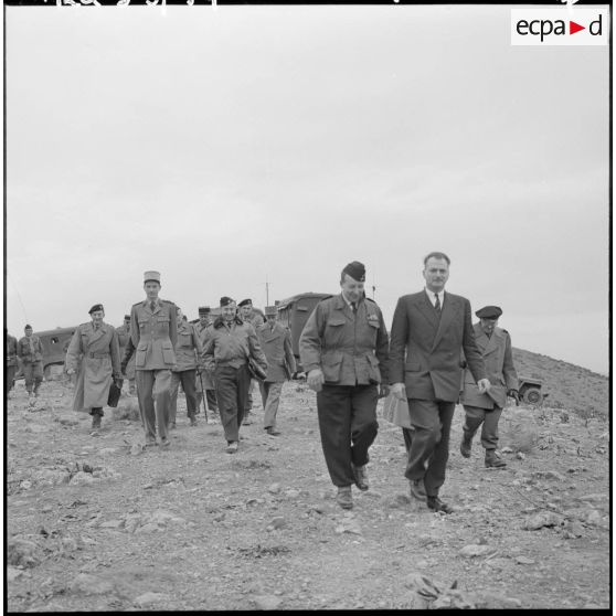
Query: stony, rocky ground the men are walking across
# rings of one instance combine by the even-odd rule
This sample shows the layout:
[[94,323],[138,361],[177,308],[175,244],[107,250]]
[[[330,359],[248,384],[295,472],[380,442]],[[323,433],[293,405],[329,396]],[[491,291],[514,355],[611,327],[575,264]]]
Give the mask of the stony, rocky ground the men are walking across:
[[[320,448],[315,394],[287,383],[279,437],[262,408],[235,455],[220,425],[144,449],[135,399],[89,416],[43,384],[7,403],[7,607],[135,609],[607,608],[609,427],[566,408],[510,406],[506,469],[452,434],[445,516],[417,510],[400,428],[380,419],[371,488],[341,510]],[[379,414],[382,403],[379,405]],[[606,413],[607,414],[607,413]]]

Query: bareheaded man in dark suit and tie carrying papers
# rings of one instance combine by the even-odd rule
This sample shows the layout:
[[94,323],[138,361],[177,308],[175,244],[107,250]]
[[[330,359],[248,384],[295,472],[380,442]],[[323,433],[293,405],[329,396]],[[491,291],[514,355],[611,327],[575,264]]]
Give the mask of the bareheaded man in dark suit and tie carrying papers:
[[449,456],[449,431],[461,382],[460,350],[481,393],[490,389],[475,342],[468,299],[445,293],[449,257],[424,259],[424,290],[397,300],[390,342],[392,393],[408,399],[413,436],[405,477],[411,497],[450,513],[438,498]]

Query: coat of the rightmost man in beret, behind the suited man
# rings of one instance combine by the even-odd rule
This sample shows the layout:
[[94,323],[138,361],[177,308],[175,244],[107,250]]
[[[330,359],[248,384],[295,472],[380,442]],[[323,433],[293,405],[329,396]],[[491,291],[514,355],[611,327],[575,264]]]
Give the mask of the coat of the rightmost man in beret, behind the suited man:
[[518,374],[513,365],[511,353],[511,338],[509,333],[499,327],[488,338],[481,326],[476,323],[474,327],[475,341],[486,364],[486,372],[491,383],[489,394],[481,394],[470,374],[465,370],[463,392],[460,402],[469,406],[479,408],[493,408],[495,404],[502,408],[507,403],[507,390],[518,389]]

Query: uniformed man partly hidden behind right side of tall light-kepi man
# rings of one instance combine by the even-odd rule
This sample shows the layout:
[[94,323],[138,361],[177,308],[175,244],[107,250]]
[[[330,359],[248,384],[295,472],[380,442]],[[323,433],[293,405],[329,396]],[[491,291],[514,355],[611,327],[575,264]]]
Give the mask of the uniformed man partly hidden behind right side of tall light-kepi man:
[[169,426],[176,427],[176,415],[178,412],[178,390],[182,383],[182,390],[187,396],[187,412],[190,425],[197,425],[197,392],[195,376],[197,368],[203,361],[203,347],[201,339],[192,323],[183,319],[182,311],[176,307],[178,320],[178,342],[176,343],[177,365],[171,371],[171,410]]

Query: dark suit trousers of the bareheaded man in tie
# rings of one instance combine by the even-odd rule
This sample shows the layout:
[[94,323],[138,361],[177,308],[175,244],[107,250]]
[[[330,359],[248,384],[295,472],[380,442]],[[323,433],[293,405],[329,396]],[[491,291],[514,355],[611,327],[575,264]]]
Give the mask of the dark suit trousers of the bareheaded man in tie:
[[455,402],[408,399],[414,432],[404,476],[411,480],[423,478],[427,496],[438,496],[445,482],[455,407]]

